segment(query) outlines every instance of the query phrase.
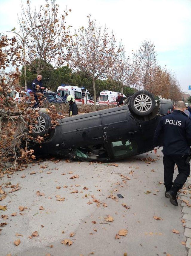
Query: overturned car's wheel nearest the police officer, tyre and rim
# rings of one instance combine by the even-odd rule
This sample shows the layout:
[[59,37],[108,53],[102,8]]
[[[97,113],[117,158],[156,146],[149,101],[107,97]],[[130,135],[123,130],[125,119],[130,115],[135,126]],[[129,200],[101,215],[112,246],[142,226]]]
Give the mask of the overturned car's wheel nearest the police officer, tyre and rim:
[[155,108],[155,98],[146,90],[137,91],[131,96],[129,107],[136,115],[149,115]]

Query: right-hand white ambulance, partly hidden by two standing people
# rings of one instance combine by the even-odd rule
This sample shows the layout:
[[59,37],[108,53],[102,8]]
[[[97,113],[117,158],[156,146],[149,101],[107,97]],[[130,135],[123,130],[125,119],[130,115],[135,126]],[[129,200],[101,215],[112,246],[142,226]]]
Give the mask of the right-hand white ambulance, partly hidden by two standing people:
[[[121,94],[121,92],[116,92],[116,91],[101,91],[100,95],[99,95],[99,105],[117,105],[116,102],[116,97],[117,95]],[[123,94],[124,100],[127,99],[127,97],[125,96],[125,94]]]

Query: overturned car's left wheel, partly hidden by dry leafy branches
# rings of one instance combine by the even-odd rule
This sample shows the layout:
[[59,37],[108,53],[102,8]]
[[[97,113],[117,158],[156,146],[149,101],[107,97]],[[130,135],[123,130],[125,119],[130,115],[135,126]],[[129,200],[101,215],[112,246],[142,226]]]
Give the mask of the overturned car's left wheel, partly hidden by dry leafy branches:
[[39,116],[37,117],[38,124],[32,124],[32,133],[31,136],[36,138],[38,136],[43,136],[50,130],[51,118],[49,115],[38,112]]

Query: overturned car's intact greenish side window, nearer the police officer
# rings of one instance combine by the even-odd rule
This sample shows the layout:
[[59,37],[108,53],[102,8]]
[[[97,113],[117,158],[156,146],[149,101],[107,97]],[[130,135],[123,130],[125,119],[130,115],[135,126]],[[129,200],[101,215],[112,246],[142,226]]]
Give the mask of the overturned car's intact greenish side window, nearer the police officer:
[[114,157],[131,156],[137,153],[137,142],[135,139],[112,142]]

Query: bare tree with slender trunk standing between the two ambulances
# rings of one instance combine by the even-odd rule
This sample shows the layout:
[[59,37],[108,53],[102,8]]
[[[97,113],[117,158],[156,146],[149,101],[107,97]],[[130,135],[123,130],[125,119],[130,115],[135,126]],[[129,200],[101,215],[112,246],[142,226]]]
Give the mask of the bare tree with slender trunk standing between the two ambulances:
[[[91,16],[91,15],[90,15]],[[73,36],[69,47],[71,67],[80,70],[93,82],[94,107],[96,110],[96,79],[105,78],[116,60],[115,37],[109,36],[106,26],[103,31],[96,21],[88,18],[88,27],[80,28]],[[118,50],[119,51],[119,50]]]

